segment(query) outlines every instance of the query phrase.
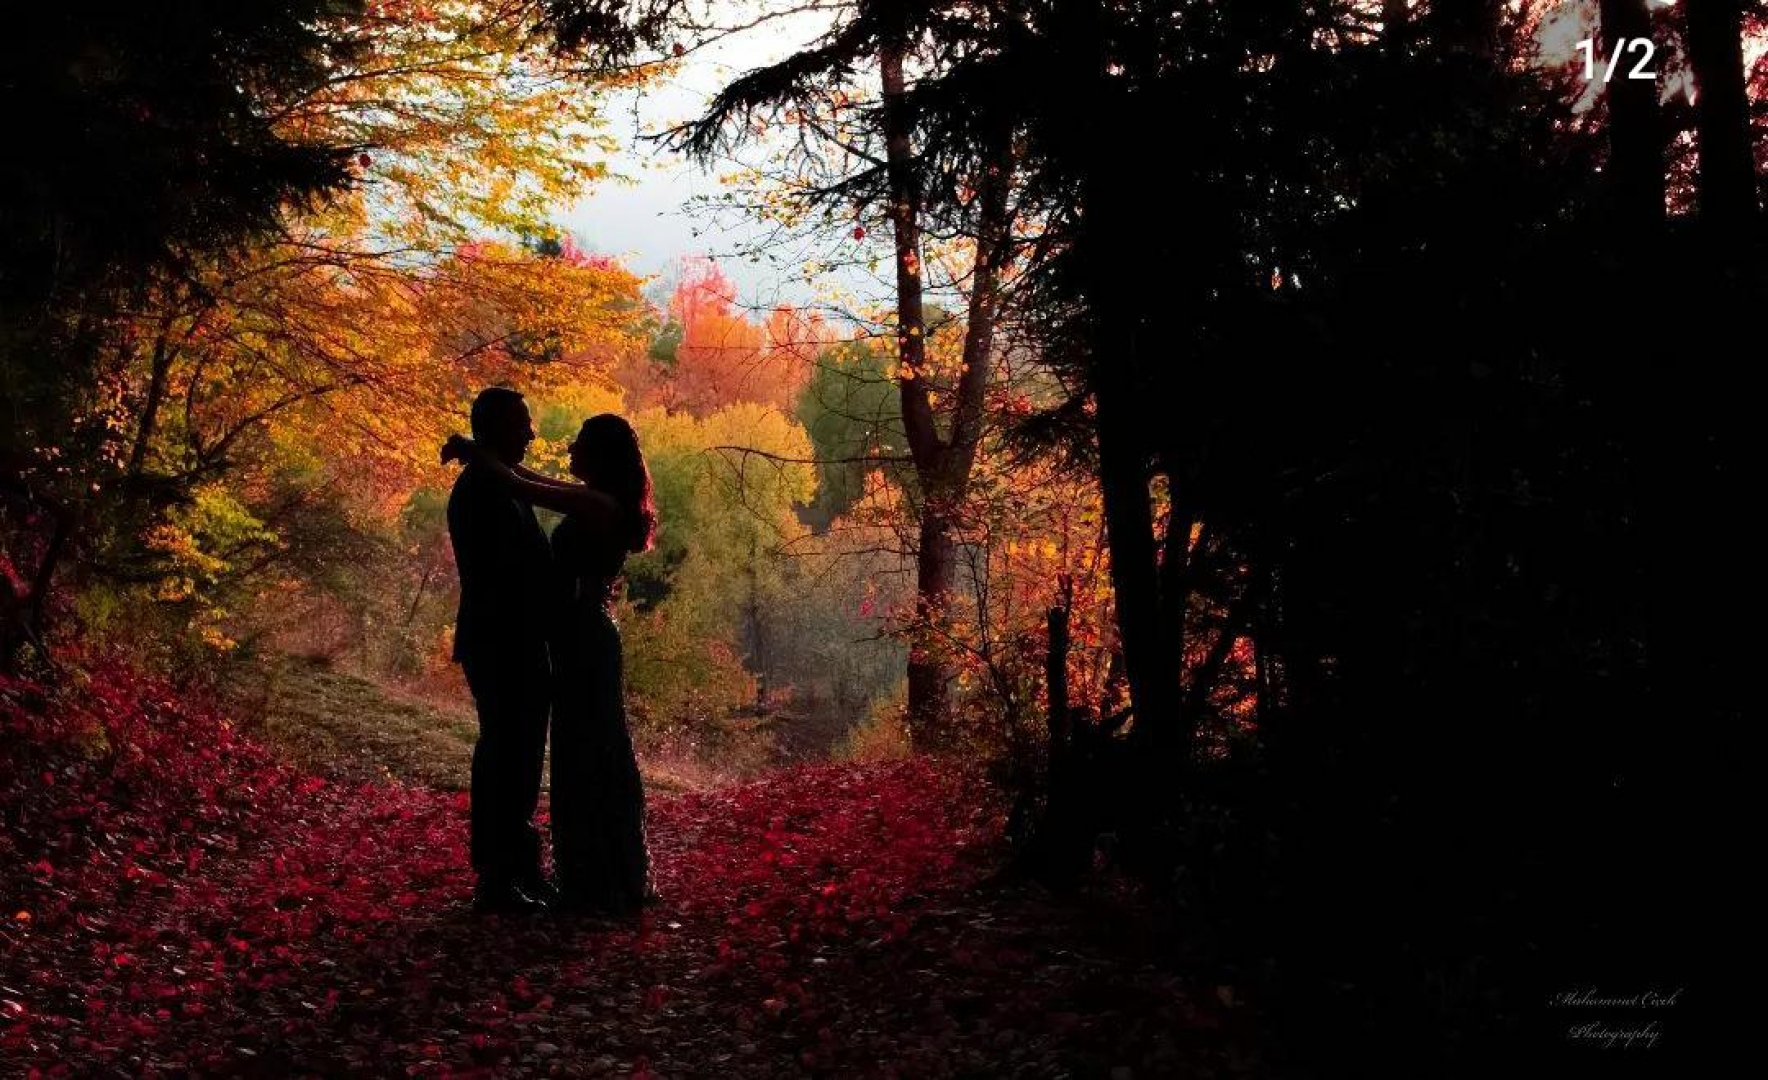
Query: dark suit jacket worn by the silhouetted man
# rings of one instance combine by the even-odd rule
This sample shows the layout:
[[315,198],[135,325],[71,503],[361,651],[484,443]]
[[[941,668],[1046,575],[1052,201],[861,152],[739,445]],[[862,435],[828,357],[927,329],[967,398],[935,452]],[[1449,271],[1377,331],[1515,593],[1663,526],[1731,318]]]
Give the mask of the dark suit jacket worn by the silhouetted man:
[[552,546],[534,509],[469,465],[447,498],[460,567],[454,659],[529,659],[546,645]]

